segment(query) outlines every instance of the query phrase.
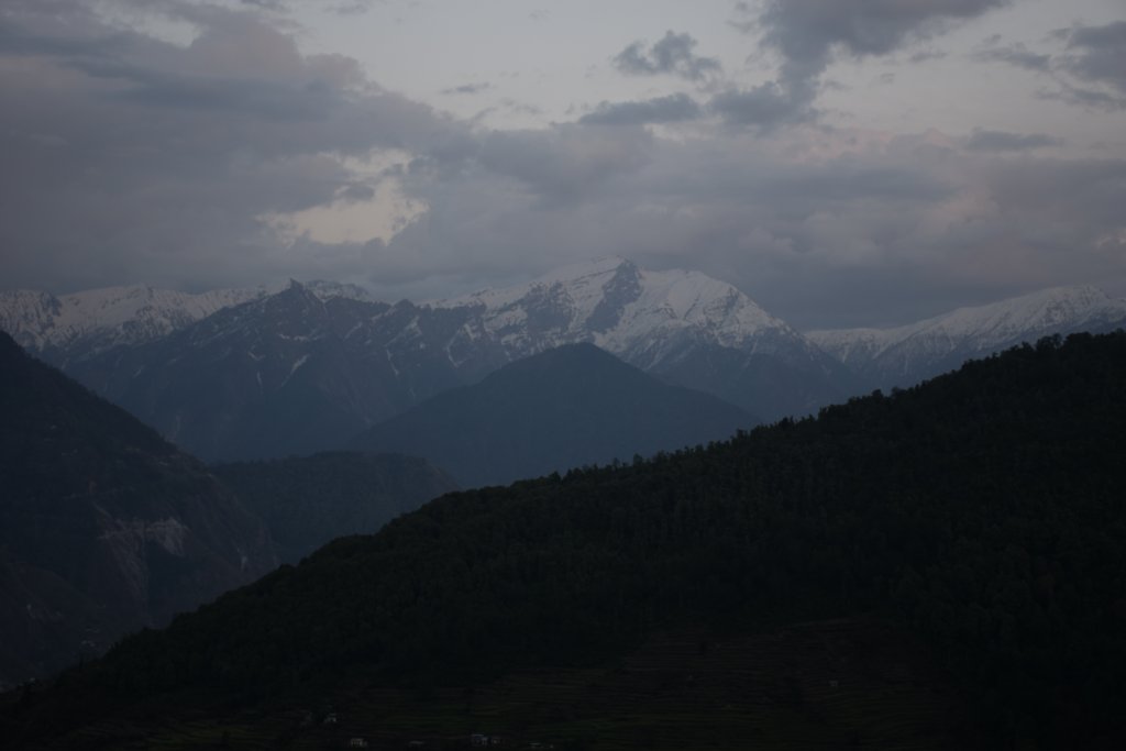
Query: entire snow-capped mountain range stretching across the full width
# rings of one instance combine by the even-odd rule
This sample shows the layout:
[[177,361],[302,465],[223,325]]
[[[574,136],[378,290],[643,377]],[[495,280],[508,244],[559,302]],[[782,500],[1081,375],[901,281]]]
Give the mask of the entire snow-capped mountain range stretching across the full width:
[[1048,333],[1106,331],[1126,302],[1064,287],[894,329],[802,334],[725,283],[609,258],[425,304],[336,283],[182,295],[0,293],[0,327],[206,461],[306,455],[501,366],[592,343],[763,420]]

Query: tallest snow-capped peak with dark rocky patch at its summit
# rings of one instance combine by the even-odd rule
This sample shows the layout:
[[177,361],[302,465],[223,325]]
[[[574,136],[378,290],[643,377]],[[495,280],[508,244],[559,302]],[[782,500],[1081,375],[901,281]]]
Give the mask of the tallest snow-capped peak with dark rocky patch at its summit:
[[849,393],[849,373],[789,324],[698,271],[649,271],[622,258],[562,268],[528,285],[436,304],[476,321],[508,359],[589,342],[662,379],[763,419],[804,414]]

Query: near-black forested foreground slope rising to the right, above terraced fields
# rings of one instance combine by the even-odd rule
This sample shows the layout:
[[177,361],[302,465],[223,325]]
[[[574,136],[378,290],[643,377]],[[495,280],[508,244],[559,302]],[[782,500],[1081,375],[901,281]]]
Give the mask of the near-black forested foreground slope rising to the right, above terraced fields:
[[1121,331],[1046,339],[729,442],[446,495],[127,640],[54,706],[464,686],[658,628],[877,614],[1000,736],[1114,743],[1124,373]]

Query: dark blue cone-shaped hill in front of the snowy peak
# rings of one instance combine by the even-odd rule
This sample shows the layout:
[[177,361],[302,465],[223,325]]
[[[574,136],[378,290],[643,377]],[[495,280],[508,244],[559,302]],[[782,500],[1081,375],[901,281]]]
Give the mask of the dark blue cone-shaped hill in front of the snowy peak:
[[720,440],[757,422],[593,345],[569,345],[438,394],[352,445],[423,456],[481,486]]

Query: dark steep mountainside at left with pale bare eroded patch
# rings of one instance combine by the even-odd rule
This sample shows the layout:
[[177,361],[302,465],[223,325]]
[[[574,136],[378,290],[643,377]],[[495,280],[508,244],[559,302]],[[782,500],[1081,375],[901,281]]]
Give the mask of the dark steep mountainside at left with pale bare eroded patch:
[[100,653],[276,565],[196,459],[0,332],[0,685]]

